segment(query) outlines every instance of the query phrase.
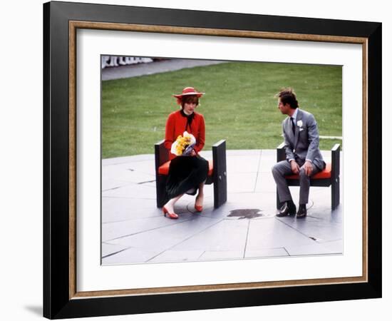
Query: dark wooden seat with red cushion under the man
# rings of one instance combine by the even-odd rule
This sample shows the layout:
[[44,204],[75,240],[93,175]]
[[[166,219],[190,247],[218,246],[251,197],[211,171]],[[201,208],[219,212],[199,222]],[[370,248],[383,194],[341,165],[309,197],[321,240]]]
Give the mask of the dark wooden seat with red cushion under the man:
[[[277,147],[277,162],[286,159],[284,143]],[[316,173],[310,178],[311,186],[329,187],[331,186],[331,208],[334,210],[340,203],[340,144],[335,144],[331,149],[331,163],[326,164],[326,168]],[[299,175],[287,175],[287,185],[299,186]],[[277,193],[277,208],[282,207]]]

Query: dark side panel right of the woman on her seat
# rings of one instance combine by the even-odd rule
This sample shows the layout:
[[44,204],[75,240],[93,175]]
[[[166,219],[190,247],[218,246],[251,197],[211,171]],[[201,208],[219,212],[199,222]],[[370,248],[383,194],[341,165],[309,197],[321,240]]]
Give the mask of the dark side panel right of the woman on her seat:
[[226,141],[219,141],[212,146],[214,162],[214,208],[227,201],[227,169],[226,169]]

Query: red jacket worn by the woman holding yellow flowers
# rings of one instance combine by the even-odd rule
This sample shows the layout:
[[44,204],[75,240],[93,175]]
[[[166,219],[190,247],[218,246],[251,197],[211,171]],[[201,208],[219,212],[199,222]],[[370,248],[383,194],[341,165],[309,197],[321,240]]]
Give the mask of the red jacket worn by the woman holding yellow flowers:
[[[195,113],[191,126],[187,126],[187,118],[182,116],[181,111],[170,113],[166,122],[165,131],[165,148],[169,151],[172,148],[172,143],[175,142],[178,136],[182,135],[184,131],[191,133],[196,138],[196,145],[193,148],[196,153],[200,152],[205,144],[205,122],[201,113]],[[187,128],[186,128],[187,126]],[[172,160],[175,155],[169,153],[169,158]]]

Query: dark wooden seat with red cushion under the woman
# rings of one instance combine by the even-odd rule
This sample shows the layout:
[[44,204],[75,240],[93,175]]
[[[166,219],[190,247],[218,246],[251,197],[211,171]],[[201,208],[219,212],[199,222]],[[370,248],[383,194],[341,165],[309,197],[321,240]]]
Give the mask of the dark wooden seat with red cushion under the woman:
[[[164,140],[155,144],[155,179],[157,190],[157,207],[162,208],[165,199],[165,186],[169,173],[169,151],[164,146]],[[212,146],[212,161],[209,161],[207,185],[214,184],[214,208],[227,201],[227,170],[226,170],[226,141],[218,141]]]

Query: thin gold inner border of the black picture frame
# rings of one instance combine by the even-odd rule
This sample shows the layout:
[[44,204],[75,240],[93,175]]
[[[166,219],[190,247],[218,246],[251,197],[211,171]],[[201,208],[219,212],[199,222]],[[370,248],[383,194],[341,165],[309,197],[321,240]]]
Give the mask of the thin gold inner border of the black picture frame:
[[[293,41],[321,41],[346,44],[362,44],[362,276],[334,277],[309,280],[288,280],[273,282],[246,282],[216,285],[190,285],[180,287],[152,287],[144,289],[102,290],[77,292],[76,290],[76,29],[100,29],[114,31],[155,32],[165,34],[192,34],[203,36],[232,36],[243,38],[278,39]],[[368,39],[347,36],[324,36],[317,34],[284,34],[264,31],[238,31],[229,29],[204,29],[176,26],[151,26],[143,24],[111,24],[91,21],[69,21],[69,299],[87,297],[113,297],[123,295],[157,295],[184,292],[210,292],[224,290],[247,290],[267,287],[292,287],[304,285],[328,285],[368,281]]]

